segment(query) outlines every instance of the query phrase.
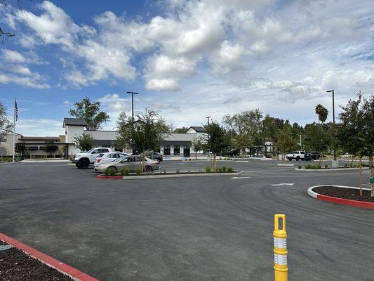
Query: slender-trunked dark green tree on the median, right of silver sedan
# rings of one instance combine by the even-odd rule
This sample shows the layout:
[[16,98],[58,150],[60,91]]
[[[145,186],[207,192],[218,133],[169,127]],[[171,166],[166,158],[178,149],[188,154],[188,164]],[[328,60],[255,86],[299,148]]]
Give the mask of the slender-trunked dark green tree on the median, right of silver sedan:
[[229,147],[229,138],[225,129],[217,122],[211,122],[204,126],[207,136],[204,140],[208,151],[213,153],[213,171],[217,171],[217,155]]

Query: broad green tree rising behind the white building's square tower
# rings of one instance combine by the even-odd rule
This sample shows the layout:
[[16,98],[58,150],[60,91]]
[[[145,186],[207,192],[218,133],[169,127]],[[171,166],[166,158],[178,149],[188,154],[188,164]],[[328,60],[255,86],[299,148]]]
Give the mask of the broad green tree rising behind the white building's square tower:
[[83,98],[81,101],[74,103],[74,109],[69,110],[73,117],[84,119],[88,130],[96,131],[102,128],[102,123],[109,120],[106,112],[100,111],[101,103],[99,101],[91,102],[90,98]]

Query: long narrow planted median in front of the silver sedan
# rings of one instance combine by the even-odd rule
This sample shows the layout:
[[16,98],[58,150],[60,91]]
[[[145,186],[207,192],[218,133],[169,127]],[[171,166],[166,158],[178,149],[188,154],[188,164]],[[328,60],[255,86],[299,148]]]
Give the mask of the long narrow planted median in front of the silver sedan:
[[158,172],[149,174],[101,174],[96,176],[96,178],[109,178],[113,180],[130,180],[130,179],[140,179],[140,178],[185,178],[194,176],[235,176],[243,174],[243,171],[234,171],[231,168],[228,169],[218,169],[216,172],[211,172],[209,169],[206,171],[173,171],[173,172]]

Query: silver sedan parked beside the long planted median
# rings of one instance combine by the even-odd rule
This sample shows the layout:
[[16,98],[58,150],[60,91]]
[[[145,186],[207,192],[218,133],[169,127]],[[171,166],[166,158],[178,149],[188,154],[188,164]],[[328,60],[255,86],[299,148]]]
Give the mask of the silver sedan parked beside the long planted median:
[[[108,168],[113,168],[118,173],[121,169],[126,168],[130,172],[135,172],[137,169],[142,169],[142,157],[137,155],[125,156],[115,159],[113,162],[98,164],[95,166],[95,171],[98,173],[105,173]],[[159,169],[159,162],[145,157],[145,171],[150,173]]]

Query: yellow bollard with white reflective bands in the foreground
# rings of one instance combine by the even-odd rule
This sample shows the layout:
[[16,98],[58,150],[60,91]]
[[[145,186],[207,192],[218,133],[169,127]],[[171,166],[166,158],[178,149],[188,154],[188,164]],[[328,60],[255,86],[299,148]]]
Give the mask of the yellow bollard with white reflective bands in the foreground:
[[[279,228],[279,226],[281,226]],[[274,280],[287,281],[286,215],[274,215]]]

